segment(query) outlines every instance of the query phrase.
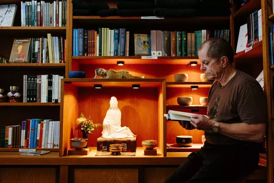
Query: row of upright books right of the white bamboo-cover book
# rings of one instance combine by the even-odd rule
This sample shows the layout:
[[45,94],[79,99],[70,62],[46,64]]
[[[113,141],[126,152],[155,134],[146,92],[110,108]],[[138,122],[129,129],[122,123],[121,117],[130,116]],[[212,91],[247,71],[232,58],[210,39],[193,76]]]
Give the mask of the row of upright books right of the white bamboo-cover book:
[[62,27],[67,25],[67,1],[21,2],[22,27]]

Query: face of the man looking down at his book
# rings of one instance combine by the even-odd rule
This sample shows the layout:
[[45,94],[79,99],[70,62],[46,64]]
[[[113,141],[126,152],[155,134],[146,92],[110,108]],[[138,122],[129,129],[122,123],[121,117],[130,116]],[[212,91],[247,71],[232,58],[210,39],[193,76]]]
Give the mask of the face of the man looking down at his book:
[[206,47],[198,52],[199,60],[201,62],[201,70],[205,72],[208,79],[218,79],[223,70],[222,62],[216,62],[216,59],[208,58],[206,52]]

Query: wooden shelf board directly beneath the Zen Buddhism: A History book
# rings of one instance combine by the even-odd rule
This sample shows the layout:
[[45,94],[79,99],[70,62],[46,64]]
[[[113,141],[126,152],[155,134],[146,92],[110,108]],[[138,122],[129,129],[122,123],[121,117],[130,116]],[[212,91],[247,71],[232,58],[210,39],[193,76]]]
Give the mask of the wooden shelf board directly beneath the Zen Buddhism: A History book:
[[30,68],[65,68],[65,63],[0,63],[4,67],[30,67]]

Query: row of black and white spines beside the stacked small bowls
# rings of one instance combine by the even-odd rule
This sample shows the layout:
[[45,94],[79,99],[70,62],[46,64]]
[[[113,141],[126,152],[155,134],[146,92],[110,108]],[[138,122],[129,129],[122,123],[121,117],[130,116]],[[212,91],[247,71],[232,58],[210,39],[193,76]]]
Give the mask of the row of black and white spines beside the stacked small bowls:
[[61,102],[61,79],[63,76],[24,75],[23,102]]

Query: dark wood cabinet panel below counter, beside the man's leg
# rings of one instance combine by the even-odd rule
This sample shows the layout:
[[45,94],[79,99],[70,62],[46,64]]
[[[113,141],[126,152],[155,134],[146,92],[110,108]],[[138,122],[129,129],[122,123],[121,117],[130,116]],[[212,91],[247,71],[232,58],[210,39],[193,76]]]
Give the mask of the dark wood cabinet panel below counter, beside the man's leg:
[[164,183],[176,167],[144,168],[144,183]]

